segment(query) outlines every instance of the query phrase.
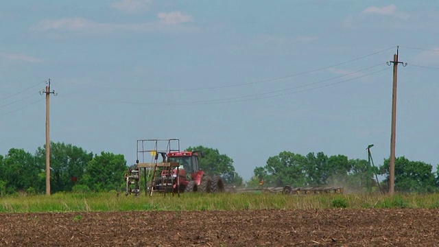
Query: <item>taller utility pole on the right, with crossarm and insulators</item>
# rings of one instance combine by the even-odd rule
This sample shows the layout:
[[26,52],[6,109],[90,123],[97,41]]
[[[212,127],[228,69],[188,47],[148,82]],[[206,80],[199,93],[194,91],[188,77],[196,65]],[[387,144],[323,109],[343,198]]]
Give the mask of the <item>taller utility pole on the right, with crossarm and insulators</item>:
[[393,64],[393,89],[392,89],[392,132],[390,134],[390,185],[389,185],[389,194],[393,196],[395,191],[395,143],[396,143],[396,84],[398,80],[398,64],[402,64],[403,67],[407,66],[407,63],[398,61],[399,55],[399,46],[396,47],[396,54],[393,55],[393,61],[387,62]]

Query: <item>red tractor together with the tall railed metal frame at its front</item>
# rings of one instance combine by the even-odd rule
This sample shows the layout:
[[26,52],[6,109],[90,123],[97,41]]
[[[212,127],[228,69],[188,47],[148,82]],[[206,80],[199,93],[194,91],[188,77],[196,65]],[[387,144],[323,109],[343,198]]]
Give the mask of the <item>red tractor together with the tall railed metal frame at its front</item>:
[[[164,147],[162,148],[161,145]],[[146,154],[152,161],[146,163]],[[162,162],[158,162],[158,155]],[[137,161],[134,168],[125,174],[126,195],[141,191],[141,177],[145,195],[154,191],[172,194],[181,192],[224,192],[224,183],[220,176],[209,176],[198,163],[201,152],[180,151],[179,139],[145,139],[137,141]]]

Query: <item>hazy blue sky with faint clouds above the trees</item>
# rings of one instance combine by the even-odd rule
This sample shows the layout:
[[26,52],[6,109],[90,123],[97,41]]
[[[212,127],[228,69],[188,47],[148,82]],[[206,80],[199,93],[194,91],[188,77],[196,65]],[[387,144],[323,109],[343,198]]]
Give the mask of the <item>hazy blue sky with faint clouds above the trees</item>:
[[[50,139],[135,163],[138,139],[233,158],[396,156],[439,164],[438,1],[1,1],[0,154]],[[391,64],[390,64],[391,65]],[[435,124],[436,123],[436,124]]]

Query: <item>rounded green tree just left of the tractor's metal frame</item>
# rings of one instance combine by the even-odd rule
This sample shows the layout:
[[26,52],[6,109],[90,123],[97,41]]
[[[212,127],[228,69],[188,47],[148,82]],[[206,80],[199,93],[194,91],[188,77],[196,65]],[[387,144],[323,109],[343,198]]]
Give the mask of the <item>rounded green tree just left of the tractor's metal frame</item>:
[[123,154],[101,152],[88,162],[84,174],[84,185],[93,191],[119,189],[123,183],[123,174],[127,170]]

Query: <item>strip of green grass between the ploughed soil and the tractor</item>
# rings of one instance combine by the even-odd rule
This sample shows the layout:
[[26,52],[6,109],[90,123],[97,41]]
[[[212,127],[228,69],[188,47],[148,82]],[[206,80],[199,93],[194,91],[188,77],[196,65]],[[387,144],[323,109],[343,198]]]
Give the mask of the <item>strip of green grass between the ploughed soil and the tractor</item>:
[[[0,213],[89,211],[211,211],[241,209],[438,209],[439,194],[182,193],[166,196],[116,196],[115,193],[55,193],[52,196],[0,198]],[[78,214],[79,215],[79,214]],[[74,220],[80,220],[75,217]]]

